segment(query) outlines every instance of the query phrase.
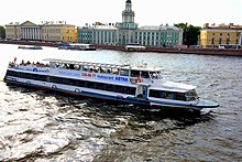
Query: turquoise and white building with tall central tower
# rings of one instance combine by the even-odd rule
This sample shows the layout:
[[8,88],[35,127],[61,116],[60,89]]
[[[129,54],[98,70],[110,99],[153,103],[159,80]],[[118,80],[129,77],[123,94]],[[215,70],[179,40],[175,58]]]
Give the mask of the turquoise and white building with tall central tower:
[[122,11],[122,22],[105,25],[77,28],[78,43],[119,44],[139,43],[145,46],[174,46],[183,44],[183,30],[176,26],[157,25],[139,28],[134,22],[131,0],[127,0]]

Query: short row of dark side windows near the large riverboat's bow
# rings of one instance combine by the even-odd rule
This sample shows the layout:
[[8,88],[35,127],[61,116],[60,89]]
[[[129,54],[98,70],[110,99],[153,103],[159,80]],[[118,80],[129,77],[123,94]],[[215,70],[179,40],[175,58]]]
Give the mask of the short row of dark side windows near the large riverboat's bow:
[[187,100],[184,93],[163,91],[163,90],[150,90],[150,97],[165,98],[174,100]]

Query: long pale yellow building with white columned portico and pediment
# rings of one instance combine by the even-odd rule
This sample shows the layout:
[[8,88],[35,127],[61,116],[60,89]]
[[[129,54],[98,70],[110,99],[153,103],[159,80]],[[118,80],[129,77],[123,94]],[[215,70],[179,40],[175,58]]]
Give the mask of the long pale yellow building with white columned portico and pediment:
[[51,41],[51,42],[76,42],[77,31],[75,25],[65,22],[43,22],[35,24],[30,21],[24,23],[10,23],[6,25],[6,39],[26,41]]

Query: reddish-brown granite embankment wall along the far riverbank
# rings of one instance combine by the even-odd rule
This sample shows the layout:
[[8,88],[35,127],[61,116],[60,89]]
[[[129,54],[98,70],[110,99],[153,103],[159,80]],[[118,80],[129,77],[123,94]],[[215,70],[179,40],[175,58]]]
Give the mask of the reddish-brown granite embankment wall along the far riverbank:
[[[40,45],[40,46],[52,46],[52,47],[58,46],[58,43],[53,43],[53,42],[0,41],[0,43],[20,44],[20,45]],[[96,46],[99,50],[124,51],[124,46],[122,45],[96,45]],[[242,56],[242,48],[169,48],[169,47],[147,46],[144,52]]]

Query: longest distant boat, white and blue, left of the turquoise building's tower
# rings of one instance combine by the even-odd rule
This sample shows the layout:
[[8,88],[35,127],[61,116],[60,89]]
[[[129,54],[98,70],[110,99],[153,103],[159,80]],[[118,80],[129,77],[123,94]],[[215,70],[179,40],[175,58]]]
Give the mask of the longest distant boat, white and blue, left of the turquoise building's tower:
[[58,50],[96,51],[96,46],[82,43],[61,43],[58,44]]

